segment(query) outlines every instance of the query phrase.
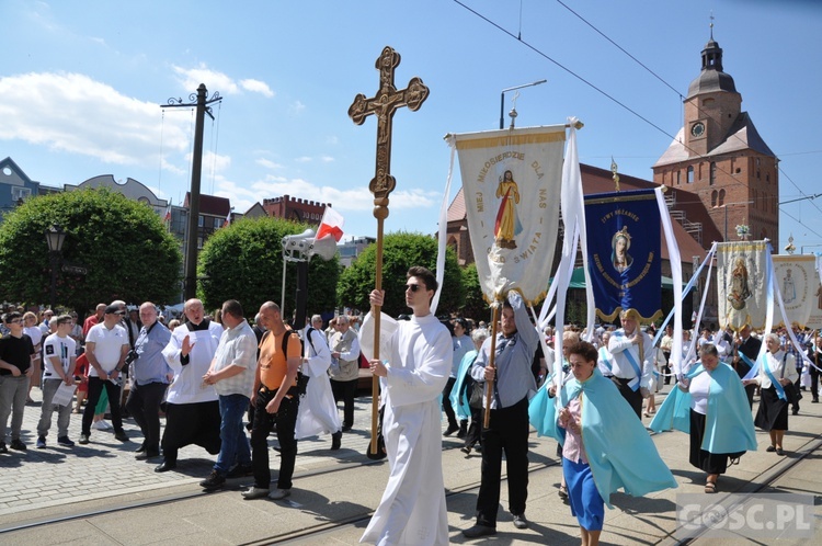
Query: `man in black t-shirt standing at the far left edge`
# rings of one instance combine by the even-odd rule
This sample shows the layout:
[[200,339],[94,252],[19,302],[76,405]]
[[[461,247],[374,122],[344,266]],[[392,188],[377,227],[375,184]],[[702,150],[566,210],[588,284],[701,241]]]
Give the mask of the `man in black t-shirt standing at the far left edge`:
[[25,451],[20,441],[20,428],[23,424],[23,410],[28,395],[28,380],[34,367],[34,345],[32,339],[23,333],[23,315],[18,311],[7,312],[3,323],[9,334],[0,339],[0,453],[5,448],[5,426],[11,414],[12,450]]

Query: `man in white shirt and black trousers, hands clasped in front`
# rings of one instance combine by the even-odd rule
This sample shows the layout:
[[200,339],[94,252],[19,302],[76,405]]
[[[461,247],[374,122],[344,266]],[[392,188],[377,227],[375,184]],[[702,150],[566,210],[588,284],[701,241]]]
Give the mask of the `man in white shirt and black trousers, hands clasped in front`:
[[100,395],[105,388],[109,395],[109,406],[112,410],[114,437],[121,442],[128,442],[128,435],[123,430],[123,418],[119,412],[119,373],[128,354],[128,333],[119,326],[125,314],[118,305],[105,308],[103,322],[94,325],[85,337],[85,356],[89,359],[89,401],[83,410],[82,433],[80,444],[89,443],[91,436],[91,421],[94,419],[94,408]]

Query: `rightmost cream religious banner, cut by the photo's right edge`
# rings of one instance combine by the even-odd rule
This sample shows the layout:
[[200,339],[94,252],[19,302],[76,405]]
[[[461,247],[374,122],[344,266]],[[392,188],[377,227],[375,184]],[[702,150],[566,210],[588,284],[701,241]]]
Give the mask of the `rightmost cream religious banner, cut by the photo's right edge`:
[[817,259],[813,255],[775,255],[773,259],[774,276],[779,285],[786,314],[784,320],[778,303],[775,302],[774,326],[786,326],[787,320],[787,326],[798,325],[804,328],[819,303]]

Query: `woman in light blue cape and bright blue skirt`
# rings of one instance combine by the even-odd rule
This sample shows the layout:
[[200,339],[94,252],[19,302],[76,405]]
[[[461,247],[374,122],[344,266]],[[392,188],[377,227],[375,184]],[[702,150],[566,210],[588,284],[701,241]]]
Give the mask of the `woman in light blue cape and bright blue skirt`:
[[596,357],[591,343],[571,346],[573,379],[549,405],[556,426],[548,432],[562,444],[562,473],[584,546],[598,544],[610,493],[624,489],[639,497],[676,487],[642,422],[596,368]]

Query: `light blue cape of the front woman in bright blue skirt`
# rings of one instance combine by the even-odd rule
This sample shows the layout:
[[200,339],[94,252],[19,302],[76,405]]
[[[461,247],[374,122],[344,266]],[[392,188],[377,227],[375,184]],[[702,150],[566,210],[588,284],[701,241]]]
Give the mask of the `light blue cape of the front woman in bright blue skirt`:
[[[548,383],[548,382],[546,382]],[[541,389],[540,389],[541,390]],[[582,444],[585,446],[594,484],[608,508],[610,493],[624,489],[626,493],[641,497],[652,491],[677,487],[667,465],[660,458],[651,436],[642,426],[642,421],[619,394],[613,382],[603,377],[597,368],[585,382],[569,380],[555,403],[534,400],[529,407],[532,424],[537,408],[545,414],[538,416],[537,431],[557,439],[564,444],[564,429],[557,424],[559,409],[568,405],[574,396],[582,402]],[[547,398],[547,391],[545,394]],[[560,403],[562,406],[560,406]],[[540,429],[541,426],[541,429]]]

